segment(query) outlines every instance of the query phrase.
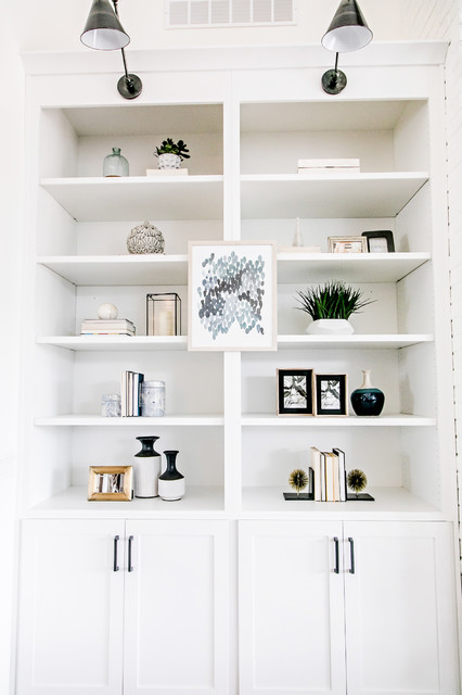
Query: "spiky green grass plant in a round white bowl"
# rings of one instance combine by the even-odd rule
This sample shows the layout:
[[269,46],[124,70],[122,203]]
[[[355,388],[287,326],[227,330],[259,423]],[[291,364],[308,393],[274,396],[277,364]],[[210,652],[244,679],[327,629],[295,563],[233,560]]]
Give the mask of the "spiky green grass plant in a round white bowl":
[[306,312],[312,318],[307,333],[318,336],[354,333],[349,317],[373,301],[362,299],[361,290],[339,280],[300,290],[297,294],[300,306],[296,308]]

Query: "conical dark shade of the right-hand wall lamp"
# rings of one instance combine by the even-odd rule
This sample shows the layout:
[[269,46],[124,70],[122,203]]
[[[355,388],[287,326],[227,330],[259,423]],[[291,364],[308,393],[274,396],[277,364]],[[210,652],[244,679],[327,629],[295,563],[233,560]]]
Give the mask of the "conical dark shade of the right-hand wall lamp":
[[372,31],[356,0],[342,0],[321,42],[330,51],[348,53],[364,48],[371,40]]

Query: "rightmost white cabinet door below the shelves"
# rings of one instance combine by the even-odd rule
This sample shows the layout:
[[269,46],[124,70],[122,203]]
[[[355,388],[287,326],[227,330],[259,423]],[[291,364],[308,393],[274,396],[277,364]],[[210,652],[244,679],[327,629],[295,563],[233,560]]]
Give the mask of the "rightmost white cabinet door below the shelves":
[[451,526],[347,522],[345,552],[348,695],[457,695]]

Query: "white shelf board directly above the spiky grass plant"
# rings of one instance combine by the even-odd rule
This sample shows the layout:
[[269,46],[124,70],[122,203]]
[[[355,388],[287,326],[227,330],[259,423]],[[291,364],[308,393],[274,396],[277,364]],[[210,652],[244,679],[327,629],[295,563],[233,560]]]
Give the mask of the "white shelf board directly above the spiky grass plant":
[[397,282],[429,253],[278,253],[278,282],[320,282],[336,277],[347,282]]

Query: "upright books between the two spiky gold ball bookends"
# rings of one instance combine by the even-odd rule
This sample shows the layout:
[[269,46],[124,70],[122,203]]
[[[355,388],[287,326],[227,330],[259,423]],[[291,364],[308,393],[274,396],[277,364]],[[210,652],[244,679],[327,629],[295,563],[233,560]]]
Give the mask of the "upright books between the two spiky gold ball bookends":
[[346,502],[344,452],[339,448],[333,448],[332,452],[321,452],[316,446],[311,446],[310,452],[315,502]]

